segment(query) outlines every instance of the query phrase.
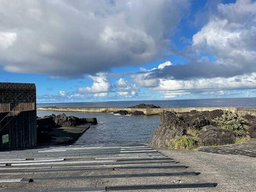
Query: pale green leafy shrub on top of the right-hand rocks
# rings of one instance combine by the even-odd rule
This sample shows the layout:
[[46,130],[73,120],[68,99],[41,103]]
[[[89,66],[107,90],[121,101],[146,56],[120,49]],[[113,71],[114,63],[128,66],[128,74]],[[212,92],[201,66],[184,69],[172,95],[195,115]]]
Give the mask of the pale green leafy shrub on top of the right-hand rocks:
[[246,124],[248,124],[248,121],[246,119],[230,111],[224,111],[221,117],[212,119],[212,121],[215,122],[217,126],[221,129],[236,132],[245,131]]

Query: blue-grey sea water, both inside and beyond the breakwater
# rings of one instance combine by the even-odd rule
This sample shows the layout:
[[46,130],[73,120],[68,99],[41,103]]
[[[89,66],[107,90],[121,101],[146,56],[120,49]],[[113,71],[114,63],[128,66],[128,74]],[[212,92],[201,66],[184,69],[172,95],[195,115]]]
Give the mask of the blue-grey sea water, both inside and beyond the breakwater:
[[[126,107],[139,103],[155,104],[162,108],[196,107],[196,106],[234,106],[238,108],[256,108],[256,98],[229,99],[186,99],[186,100],[152,100],[152,101],[111,101],[111,102],[80,102],[80,103],[46,103],[40,106],[89,106],[89,107]],[[37,111],[38,117],[62,114],[62,112]],[[97,125],[91,125],[76,144],[100,143],[149,143],[156,130],[160,117],[152,116],[118,116],[111,113],[78,113],[66,115],[76,117],[96,117]]]

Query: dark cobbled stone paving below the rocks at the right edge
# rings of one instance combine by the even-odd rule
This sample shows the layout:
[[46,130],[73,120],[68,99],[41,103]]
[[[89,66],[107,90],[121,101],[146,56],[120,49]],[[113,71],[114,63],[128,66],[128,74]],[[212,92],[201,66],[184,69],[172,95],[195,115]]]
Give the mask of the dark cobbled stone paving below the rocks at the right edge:
[[256,139],[250,139],[247,143],[243,144],[200,147],[198,151],[256,157]]

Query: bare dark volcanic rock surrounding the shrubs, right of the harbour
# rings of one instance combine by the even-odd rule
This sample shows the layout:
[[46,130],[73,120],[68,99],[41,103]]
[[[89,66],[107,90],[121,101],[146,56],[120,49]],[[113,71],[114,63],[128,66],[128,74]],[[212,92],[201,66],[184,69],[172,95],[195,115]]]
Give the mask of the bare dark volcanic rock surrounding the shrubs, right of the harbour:
[[[160,124],[154,132],[151,144],[155,147],[166,147],[166,142],[175,136],[188,135],[191,131],[196,135],[189,135],[199,138],[201,145],[222,145],[232,144],[236,140],[238,133],[229,130],[223,130],[216,127],[212,119],[221,117],[222,110],[203,111],[196,110],[190,113],[176,113],[174,111],[164,111],[160,117]],[[251,117],[252,118],[252,117]],[[256,136],[256,127],[250,127],[251,137]],[[194,130],[194,131],[193,131]]]

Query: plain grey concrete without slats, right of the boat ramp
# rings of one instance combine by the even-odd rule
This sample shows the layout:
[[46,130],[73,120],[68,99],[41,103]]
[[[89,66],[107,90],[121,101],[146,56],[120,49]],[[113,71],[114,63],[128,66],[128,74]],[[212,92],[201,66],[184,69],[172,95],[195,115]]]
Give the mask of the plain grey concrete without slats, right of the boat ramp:
[[[188,150],[161,150],[186,163],[201,174],[200,182],[217,182],[214,188],[180,189],[172,191],[207,191],[207,192],[255,192],[256,158],[241,155],[214,154]],[[181,182],[184,182],[181,178]]]

